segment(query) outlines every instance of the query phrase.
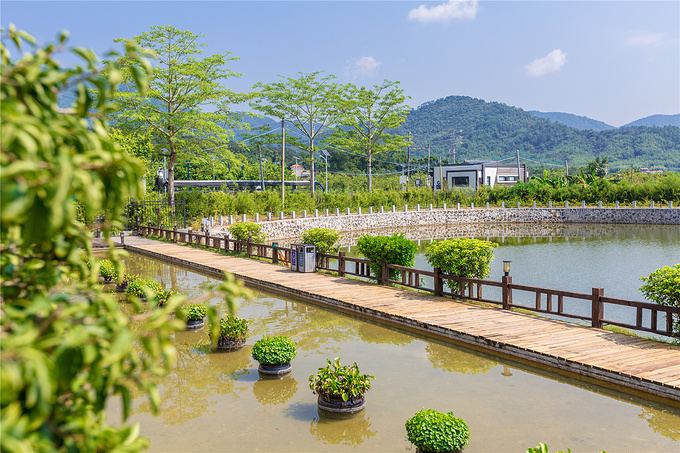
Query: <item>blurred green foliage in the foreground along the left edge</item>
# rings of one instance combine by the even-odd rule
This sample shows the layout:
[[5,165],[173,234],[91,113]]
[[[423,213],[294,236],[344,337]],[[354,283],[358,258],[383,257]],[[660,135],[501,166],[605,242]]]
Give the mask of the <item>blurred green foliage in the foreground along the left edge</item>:
[[[95,258],[78,210],[82,218],[106,212],[108,238],[126,200],[140,195],[142,165],[90,115],[108,112],[117,65],[107,64],[103,76],[94,52],[76,48],[77,65],[62,66],[55,54],[66,38],[25,48],[33,38],[10,26],[0,45],[0,450],[140,451],[148,441],[139,425],[125,423],[133,392],[148,395],[157,411],[153,380],[174,364],[170,336],[183,323],[169,318],[171,303],[133,326],[101,292],[98,266],[87,265]],[[135,58],[132,43],[127,51]],[[67,89],[75,102],[59,108]],[[104,415],[112,397],[122,407],[115,426]]]

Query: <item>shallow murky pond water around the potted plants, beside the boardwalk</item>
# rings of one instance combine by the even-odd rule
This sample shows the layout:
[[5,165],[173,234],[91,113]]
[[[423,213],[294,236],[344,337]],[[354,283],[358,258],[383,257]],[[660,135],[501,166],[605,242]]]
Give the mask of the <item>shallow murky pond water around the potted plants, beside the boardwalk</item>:
[[[204,289],[216,283],[186,269],[138,255],[130,271],[157,278],[192,301],[221,304]],[[466,452],[523,452],[545,442],[551,451],[680,451],[680,408],[569,379],[346,316],[278,295],[253,291],[238,315],[250,321],[248,345],[209,351],[207,333],[175,335],[178,363],[159,381],[162,409],[150,413],[141,394],[133,422],[150,451],[415,451],[405,421],[416,411],[452,411],[470,427]],[[121,301],[121,309],[130,306]],[[262,379],[251,347],[263,335],[298,344],[293,371]],[[320,414],[309,376],[340,357],[376,376],[367,406],[351,418]],[[120,420],[120,407],[107,409]]]

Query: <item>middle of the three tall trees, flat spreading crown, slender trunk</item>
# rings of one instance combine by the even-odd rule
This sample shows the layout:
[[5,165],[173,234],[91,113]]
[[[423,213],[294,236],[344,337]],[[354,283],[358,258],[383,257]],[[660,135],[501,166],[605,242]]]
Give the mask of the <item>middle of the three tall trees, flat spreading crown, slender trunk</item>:
[[279,76],[280,81],[264,84],[256,83],[253,88],[254,99],[251,107],[265,115],[284,118],[303,134],[308,143],[303,149],[309,153],[311,164],[312,195],[314,195],[315,140],[322,137],[329,126],[337,121],[338,86],[333,75],[321,72],[298,73],[298,78]]

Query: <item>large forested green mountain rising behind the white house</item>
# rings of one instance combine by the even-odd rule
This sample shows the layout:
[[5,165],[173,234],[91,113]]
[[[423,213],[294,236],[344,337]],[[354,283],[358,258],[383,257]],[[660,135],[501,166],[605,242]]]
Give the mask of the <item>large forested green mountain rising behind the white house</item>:
[[650,167],[680,170],[680,128],[625,127],[578,130],[539,118],[522,109],[465,96],[426,102],[412,110],[398,129],[413,134],[412,156],[446,159],[456,144],[456,160],[509,161],[519,150],[530,166],[584,166],[607,156],[610,169]]

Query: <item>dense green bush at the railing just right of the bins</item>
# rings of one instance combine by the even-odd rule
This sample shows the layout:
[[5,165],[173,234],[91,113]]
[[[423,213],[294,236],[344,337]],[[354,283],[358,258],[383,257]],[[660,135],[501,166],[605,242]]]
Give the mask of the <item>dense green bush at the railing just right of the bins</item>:
[[[418,246],[406,239],[404,233],[394,233],[392,236],[363,234],[357,240],[357,247],[367,260],[378,263],[371,265],[377,276],[380,276],[383,259],[389,264],[410,267],[415,263],[418,251]],[[400,275],[400,271],[390,269],[390,278],[395,279]]]

